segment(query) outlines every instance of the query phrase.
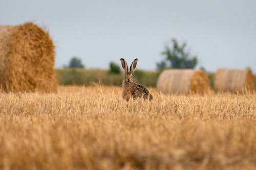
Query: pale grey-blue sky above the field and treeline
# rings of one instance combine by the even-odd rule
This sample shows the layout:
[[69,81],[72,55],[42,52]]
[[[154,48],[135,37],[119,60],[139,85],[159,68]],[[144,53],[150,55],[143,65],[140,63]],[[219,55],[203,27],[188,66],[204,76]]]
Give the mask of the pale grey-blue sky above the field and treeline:
[[1,0],[0,25],[27,21],[48,28],[56,67],[77,56],[87,68],[138,58],[138,68],[153,70],[164,45],[176,38],[198,56],[198,67],[256,72],[255,0]]

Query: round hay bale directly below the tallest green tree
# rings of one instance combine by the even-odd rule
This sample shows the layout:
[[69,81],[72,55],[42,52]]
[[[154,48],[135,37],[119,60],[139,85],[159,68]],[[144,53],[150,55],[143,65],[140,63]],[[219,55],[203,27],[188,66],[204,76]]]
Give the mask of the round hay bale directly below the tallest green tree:
[[202,70],[169,69],[159,76],[157,89],[165,94],[204,94],[209,90],[209,79]]

